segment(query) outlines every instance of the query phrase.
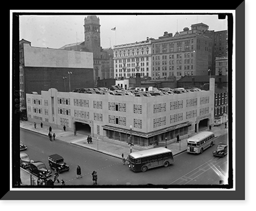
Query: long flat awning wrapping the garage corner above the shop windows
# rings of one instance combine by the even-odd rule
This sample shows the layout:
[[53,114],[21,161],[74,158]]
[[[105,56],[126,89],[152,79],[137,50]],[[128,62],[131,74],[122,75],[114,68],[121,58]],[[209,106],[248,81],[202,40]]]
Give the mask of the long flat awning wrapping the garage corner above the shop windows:
[[[168,131],[172,131],[172,130],[175,130],[175,129],[179,129],[179,128],[182,128],[182,127],[185,127],[185,126],[191,126],[191,125],[192,125],[191,122],[185,122],[183,124],[177,124],[177,125],[174,125],[174,126],[162,128],[162,129],[151,131],[151,132],[148,132],[148,133],[143,133],[141,131],[132,130],[132,134],[134,136],[140,136],[140,137],[144,137],[144,138],[151,138],[153,136],[166,133]],[[130,134],[131,133],[130,129],[124,129],[124,128],[110,126],[110,125],[103,125],[102,127],[105,130],[106,129],[114,130],[114,131],[118,131],[118,132],[121,132],[121,133],[124,133],[124,134]]]

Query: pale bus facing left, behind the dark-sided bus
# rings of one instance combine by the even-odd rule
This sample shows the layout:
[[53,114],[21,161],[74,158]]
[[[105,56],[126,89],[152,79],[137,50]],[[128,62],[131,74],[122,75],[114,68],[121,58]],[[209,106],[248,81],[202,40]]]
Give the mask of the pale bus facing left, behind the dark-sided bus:
[[214,133],[204,131],[187,139],[187,152],[202,153],[206,148],[215,143]]

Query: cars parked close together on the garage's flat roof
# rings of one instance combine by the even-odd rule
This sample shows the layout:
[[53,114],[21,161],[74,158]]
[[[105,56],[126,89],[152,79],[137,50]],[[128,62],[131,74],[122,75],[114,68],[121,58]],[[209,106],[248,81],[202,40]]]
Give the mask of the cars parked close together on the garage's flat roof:
[[182,94],[187,92],[199,92],[204,91],[199,88],[191,88],[191,89],[184,89],[184,88],[153,88],[151,91],[143,91],[143,88],[135,88],[130,87],[128,90],[122,89],[121,87],[115,85],[111,86],[110,88],[81,88],[75,89],[73,92],[78,93],[88,93],[88,94],[103,94],[103,95],[132,95],[135,97],[152,97],[152,96],[164,96],[164,95],[172,95],[172,94]]

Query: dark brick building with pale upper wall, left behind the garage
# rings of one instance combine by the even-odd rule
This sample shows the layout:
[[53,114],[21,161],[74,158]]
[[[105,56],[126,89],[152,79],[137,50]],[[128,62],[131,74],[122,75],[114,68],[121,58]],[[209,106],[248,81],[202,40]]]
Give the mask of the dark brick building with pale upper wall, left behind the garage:
[[27,93],[93,87],[92,53],[32,47],[30,42],[21,40],[19,78],[20,106],[24,108]]

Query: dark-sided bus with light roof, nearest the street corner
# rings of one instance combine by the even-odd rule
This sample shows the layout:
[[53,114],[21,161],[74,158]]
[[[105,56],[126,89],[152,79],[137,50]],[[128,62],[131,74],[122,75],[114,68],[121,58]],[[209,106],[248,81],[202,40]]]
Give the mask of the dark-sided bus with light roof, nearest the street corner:
[[128,157],[128,167],[135,172],[145,172],[159,166],[167,167],[172,163],[173,152],[165,147],[132,152]]

